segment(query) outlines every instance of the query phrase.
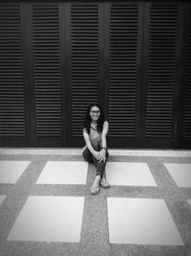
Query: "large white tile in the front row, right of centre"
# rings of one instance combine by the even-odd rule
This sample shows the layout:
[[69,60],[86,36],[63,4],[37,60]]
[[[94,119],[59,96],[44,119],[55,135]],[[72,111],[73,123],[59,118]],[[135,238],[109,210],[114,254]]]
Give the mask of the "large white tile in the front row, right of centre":
[[183,245],[163,199],[108,198],[111,244]]

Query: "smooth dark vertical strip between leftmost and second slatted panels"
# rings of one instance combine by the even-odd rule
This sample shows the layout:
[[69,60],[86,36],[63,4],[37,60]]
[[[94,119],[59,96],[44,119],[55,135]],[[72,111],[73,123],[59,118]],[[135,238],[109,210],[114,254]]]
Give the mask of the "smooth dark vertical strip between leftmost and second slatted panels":
[[35,105],[32,54],[32,4],[21,3],[21,30],[23,43],[23,80],[26,107],[26,130],[28,146],[36,146]]

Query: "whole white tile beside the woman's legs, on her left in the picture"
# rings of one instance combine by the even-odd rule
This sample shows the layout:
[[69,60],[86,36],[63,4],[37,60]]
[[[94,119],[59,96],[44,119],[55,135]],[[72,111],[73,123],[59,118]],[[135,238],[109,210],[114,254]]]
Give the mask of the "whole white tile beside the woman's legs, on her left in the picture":
[[88,163],[85,161],[48,161],[37,184],[86,184]]

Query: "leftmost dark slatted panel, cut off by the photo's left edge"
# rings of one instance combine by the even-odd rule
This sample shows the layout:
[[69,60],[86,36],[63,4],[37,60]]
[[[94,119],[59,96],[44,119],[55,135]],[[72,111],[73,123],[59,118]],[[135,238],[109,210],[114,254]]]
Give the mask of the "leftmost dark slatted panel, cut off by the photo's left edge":
[[26,135],[19,4],[0,4],[0,135]]

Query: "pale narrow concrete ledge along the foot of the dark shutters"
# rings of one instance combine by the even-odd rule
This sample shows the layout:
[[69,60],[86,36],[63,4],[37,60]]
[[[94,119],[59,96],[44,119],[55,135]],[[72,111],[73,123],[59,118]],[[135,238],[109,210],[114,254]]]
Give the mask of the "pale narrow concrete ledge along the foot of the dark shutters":
[[[191,151],[173,151],[173,150],[109,150],[110,155],[127,155],[127,156],[180,156],[191,157]],[[81,149],[44,149],[44,148],[3,148],[0,149],[0,154],[65,154],[65,155],[80,155]]]

